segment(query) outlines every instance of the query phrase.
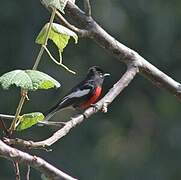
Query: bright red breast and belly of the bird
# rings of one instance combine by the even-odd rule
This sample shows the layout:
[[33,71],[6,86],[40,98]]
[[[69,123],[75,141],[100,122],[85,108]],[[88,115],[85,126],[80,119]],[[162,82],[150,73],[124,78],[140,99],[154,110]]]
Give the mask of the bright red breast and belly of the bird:
[[85,103],[81,104],[80,108],[86,109],[86,108],[90,107],[92,104],[94,104],[98,100],[99,96],[101,95],[101,92],[102,92],[102,88],[99,86],[96,87],[96,89],[95,89],[93,95],[90,97],[90,99],[88,101],[86,101]]

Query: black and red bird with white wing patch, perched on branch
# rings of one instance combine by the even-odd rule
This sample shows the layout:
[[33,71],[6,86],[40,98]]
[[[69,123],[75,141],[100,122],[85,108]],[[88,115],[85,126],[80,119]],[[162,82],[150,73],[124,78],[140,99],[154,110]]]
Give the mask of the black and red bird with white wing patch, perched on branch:
[[97,66],[91,67],[86,78],[47,112],[45,120],[49,120],[56,112],[69,106],[75,109],[90,107],[99,99],[104,78],[109,75]]

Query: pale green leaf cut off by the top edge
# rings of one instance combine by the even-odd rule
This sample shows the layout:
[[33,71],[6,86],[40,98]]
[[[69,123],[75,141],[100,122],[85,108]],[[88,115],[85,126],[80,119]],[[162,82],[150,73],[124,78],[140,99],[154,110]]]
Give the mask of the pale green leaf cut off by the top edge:
[[53,6],[64,13],[64,8],[68,0],[42,0],[42,3],[47,7]]

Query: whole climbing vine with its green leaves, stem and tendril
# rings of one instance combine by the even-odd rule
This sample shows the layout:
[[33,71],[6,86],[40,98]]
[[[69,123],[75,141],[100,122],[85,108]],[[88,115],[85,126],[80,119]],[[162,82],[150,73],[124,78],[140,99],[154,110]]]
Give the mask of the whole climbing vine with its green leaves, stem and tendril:
[[[34,66],[32,70],[14,70],[8,73],[5,73],[0,77],[0,84],[3,87],[3,89],[8,89],[12,85],[16,85],[17,87],[21,87],[21,98],[19,101],[19,104],[16,109],[15,118],[12,120],[11,126],[8,129],[9,134],[12,134],[14,130],[24,130],[32,125],[36,124],[39,119],[43,117],[43,114],[25,114],[23,116],[20,116],[20,113],[22,111],[25,99],[28,99],[28,91],[35,91],[37,89],[49,89],[53,87],[60,87],[59,82],[57,82],[55,79],[50,77],[49,75],[36,71],[40,60],[42,58],[44,50],[47,51],[50,58],[57,63],[58,65],[61,65],[64,67],[67,71],[74,73],[74,71],[70,70],[68,67],[62,64],[62,55],[63,49],[67,46],[70,36],[72,36],[75,39],[75,42],[77,43],[78,36],[72,32],[71,30],[53,23],[56,11],[59,9],[63,12],[63,9],[65,8],[65,5],[67,3],[66,0],[43,0],[42,1],[48,8],[51,7],[52,13],[49,20],[49,23],[47,23],[44,28],[39,33],[36,42],[41,45],[41,49],[38,53],[38,56],[35,60]],[[47,48],[47,42],[48,39],[51,39],[58,47],[59,49],[59,55],[60,55],[60,62],[58,63],[51,53],[49,52]],[[16,128],[17,124],[19,126]]]

